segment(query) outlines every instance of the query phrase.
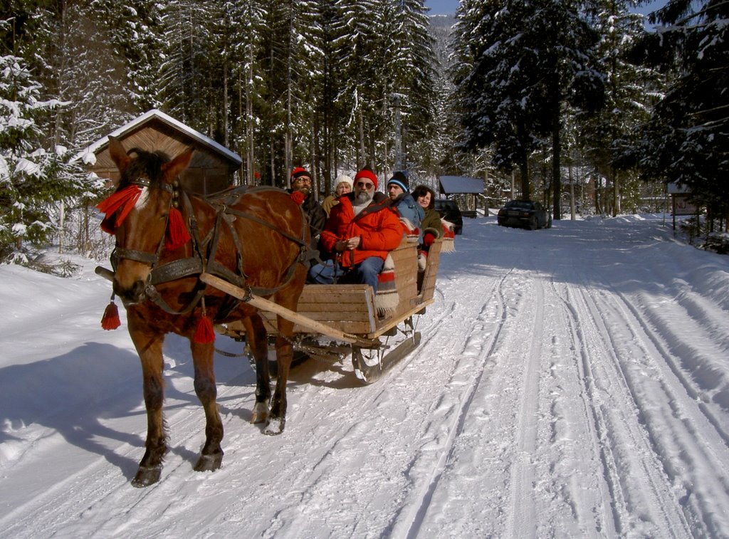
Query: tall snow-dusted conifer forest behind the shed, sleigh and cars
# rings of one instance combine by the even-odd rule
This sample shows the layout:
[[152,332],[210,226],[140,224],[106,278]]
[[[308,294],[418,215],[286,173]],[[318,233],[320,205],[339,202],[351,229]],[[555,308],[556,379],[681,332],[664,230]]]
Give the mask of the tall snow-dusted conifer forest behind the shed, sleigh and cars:
[[560,219],[580,177],[605,215],[677,182],[725,228],[729,2],[636,4],[2,0],[0,261],[83,228],[108,189],[74,157],[152,108],[240,155],[241,185],[464,175]]

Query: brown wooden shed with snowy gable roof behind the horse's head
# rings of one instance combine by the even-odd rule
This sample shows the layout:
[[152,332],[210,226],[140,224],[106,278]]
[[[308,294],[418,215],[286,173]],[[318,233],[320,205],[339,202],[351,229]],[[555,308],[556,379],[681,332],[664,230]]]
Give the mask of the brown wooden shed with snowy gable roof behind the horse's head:
[[[170,158],[194,147],[190,166],[180,175],[182,185],[192,193],[206,195],[230,187],[233,173],[242,163],[235,152],[157,109],[145,112],[109,134],[120,139],[126,150],[135,147],[147,151],[160,150]],[[119,179],[119,171],[109,155],[108,136],[91,144],[77,157],[87,163],[90,171],[98,177],[112,181]]]

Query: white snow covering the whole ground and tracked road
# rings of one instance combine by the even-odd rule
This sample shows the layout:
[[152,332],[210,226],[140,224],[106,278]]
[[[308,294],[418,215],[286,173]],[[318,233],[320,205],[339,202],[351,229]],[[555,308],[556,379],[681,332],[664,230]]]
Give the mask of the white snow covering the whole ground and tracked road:
[[171,449],[146,489],[109,284],[89,260],[71,279],[0,266],[2,535],[729,537],[729,257],[660,215],[465,221],[418,350],[364,387],[348,360],[295,367],[282,435],[248,422],[248,362],[217,356],[214,473],[192,470],[203,411],[168,336]]

